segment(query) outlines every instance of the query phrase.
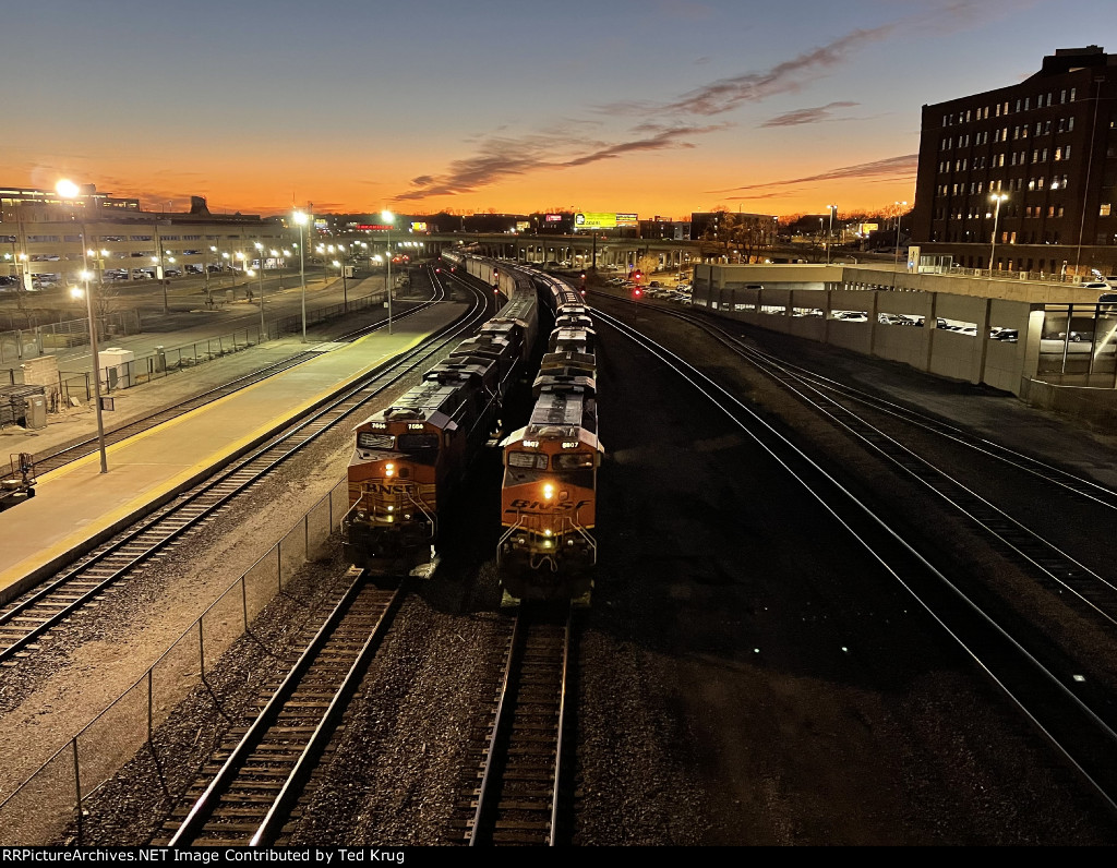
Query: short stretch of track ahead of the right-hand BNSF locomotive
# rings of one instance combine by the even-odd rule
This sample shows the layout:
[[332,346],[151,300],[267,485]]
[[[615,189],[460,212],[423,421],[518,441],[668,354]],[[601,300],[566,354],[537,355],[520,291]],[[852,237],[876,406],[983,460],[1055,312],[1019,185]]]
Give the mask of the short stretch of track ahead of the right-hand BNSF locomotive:
[[516,618],[484,760],[466,794],[470,846],[556,843],[571,618],[531,607]]

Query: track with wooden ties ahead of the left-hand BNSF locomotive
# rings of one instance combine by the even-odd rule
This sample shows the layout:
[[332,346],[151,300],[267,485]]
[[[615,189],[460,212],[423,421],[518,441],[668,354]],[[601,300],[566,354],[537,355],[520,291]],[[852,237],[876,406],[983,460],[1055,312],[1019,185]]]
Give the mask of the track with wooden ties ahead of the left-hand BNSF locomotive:
[[259,713],[225,743],[157,838],[171,847],[271,846],[297,818],[403,591],[357,575]]

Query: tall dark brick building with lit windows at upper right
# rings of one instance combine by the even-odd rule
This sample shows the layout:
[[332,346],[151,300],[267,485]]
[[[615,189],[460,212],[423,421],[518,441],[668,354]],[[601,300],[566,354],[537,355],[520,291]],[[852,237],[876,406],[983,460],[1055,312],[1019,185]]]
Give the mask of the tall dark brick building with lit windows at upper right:
[[[968,268],[1117,273],[1117,55],[923,107],[911,240]],[[992,261],[991,261],[992,260]]]

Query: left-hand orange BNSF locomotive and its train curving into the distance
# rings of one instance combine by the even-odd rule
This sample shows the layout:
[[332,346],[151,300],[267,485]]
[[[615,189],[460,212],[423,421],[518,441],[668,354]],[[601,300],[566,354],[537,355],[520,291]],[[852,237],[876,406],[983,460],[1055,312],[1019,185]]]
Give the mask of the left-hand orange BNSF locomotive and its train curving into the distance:
[[447,502],[498,427],[503,401],[525,376],[535,346],[540,302],[526,275],[489,259],[443,256],[509,301],[419,385],[356,427],[344,550],[373,575],[433,570]]

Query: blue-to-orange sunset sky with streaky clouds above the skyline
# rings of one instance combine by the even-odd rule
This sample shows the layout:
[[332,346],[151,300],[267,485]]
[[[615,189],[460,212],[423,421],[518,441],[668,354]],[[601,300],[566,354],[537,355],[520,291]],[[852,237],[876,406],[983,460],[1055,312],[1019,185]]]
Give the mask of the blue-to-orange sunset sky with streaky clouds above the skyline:
[[0,22],[0,185],[264,214],[876,210],[914,199],[924,104],[1117,51],[1114,0],[13,0]]

